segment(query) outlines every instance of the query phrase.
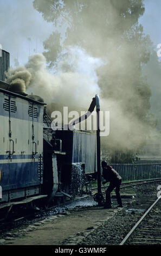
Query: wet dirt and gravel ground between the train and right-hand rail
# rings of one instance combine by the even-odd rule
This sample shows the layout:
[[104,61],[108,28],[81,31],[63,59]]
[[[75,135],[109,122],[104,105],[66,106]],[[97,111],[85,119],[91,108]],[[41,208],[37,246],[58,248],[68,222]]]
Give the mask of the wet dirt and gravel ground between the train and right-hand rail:
[[[126,191],[126,194],[129,191]],[[157,196],[157,185],[134,187],[124,208],[104,209],[93,199],[57,207],[1,235],[5,245],[117,245]],[[125,193],[125,192],[124,192]],[[123,194],[123,193],[122,193]],[[59,212],[59,214],[57,214]]]

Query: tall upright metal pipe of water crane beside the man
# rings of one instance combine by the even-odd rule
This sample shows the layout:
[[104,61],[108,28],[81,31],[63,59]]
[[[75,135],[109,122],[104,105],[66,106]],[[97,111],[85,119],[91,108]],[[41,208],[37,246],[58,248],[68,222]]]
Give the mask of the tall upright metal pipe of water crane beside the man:
[[97,117],[96,155],[97,155],[97,172],[98,172],[98,193],[101,193],[101,147],[100,147],[100,102],[99,102],[100,99],[98,94],[95,95],[95,101],[96,101],[96,117]]

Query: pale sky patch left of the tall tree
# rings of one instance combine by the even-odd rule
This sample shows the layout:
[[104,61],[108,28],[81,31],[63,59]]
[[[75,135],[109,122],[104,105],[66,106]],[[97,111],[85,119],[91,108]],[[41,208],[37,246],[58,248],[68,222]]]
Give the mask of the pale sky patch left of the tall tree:
[[34,9],[33,0],[0,0],[0,4],[0,44],[10,52],[11,66],[15,58],[24,65],[29,55],[43,52],[42,43],[53,31],[53,25]]

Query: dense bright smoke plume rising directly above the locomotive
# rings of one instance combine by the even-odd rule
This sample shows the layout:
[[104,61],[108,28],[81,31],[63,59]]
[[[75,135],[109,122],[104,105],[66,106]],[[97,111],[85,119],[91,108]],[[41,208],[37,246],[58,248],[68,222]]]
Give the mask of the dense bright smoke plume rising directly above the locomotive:
[[30,56],[24,67],[10,69],[6,81],[12,85],[11,90],[39,95],[46,103],[88,107],[92,97],[100,92],[95,70],[103,63],[80,47],[67,50],[55,74],[47,70],[46,59],[39,53]]

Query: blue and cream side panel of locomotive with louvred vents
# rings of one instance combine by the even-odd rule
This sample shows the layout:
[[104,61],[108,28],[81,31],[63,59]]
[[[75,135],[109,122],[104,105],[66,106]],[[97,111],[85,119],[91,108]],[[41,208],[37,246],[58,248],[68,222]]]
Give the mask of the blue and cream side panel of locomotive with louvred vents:
[[0,92],[1,202],[40,193],[43,106]]

